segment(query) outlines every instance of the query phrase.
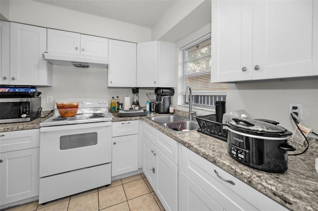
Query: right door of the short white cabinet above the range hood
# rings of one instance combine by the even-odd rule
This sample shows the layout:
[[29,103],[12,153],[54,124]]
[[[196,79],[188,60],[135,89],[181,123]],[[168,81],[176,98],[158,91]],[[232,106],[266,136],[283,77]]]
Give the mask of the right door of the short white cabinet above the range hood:
[[81,34],[80,54],[108,57],[108,39]]

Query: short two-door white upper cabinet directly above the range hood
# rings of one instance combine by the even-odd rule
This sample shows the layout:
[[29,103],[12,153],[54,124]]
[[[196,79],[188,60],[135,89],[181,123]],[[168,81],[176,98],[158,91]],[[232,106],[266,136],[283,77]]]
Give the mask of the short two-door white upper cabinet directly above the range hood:
[[48,29],[47,51],[108,57],[108,39]]

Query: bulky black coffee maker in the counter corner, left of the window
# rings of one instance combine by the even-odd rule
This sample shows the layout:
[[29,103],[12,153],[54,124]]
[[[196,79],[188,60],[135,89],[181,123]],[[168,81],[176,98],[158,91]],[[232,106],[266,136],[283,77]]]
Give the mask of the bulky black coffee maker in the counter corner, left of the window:
[[174,95],[174,89],[161,88],[155,89],[156,94],[156,113],[169,113],[169,106],[171,105],[171,96]]

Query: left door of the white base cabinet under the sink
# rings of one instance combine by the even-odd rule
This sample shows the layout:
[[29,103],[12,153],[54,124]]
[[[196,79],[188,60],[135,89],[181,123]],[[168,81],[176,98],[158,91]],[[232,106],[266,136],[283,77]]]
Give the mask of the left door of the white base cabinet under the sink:
[[157,190],[157,149],[145,136],[144,139],[144,166],[143,172],[150,185]]

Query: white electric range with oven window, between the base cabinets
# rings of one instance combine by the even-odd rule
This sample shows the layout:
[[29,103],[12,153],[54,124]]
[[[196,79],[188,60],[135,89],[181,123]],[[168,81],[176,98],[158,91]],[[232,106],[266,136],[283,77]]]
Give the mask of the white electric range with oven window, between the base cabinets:
[[39,204],[111,183],[112,114],[107,99],[79,102],[74,117],[54,115],[40,123]]

